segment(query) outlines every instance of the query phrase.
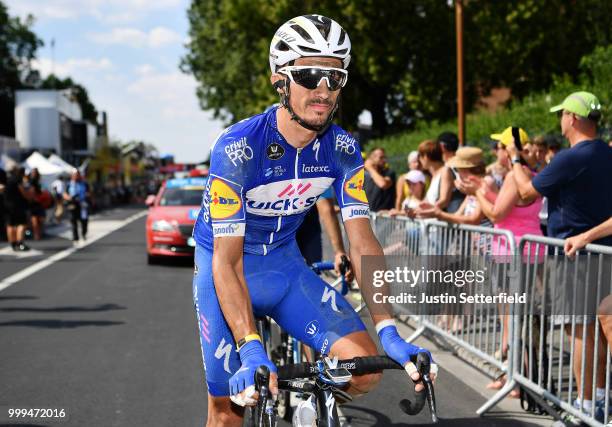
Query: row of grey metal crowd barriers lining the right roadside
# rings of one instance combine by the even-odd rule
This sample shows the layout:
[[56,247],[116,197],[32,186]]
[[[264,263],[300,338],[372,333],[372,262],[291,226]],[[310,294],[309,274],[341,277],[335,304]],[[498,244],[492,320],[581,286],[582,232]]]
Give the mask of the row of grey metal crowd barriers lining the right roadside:
[[[506,372],[504,387],[478,409],[479,415],[520,385],[549,410],[548,402],[591,426],[612,422],[607,415],[610,351],[596,316],[596,305],[612,293],[612,248],[588,245],[573,261],[560,239],[526,235],[517,244],[507,230],[375,214],[372,224],[385,255],[401,256],[403,266],[438,268],[449,261],[436,256],[456,256],[471,269],[489,271],[493,293],[527,295],[525,305],[475,303],[443,315],[435,306],[415,312],[395,305],[417,323],[408,341],[429,330]],[[568,287],[568,282],[575,285]],[[581,327],[588,321],[590,326]],[[592,344],[579,347],[587,340]],[[598,388],[600,394],[604,390],[601,408],[596,398],[587,399],[593,401],[588,410],[574,407],[575,398],[584,407],[585,396],[596,396]]]

